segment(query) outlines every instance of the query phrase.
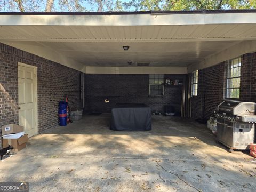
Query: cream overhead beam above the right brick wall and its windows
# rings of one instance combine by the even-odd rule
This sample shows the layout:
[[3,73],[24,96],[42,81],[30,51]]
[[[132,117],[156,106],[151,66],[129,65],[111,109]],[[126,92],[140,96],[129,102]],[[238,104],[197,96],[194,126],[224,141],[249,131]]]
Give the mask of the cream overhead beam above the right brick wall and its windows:
[[256,41],[244,41],[237,43],[225,50],[220,50],[218,53],[211,54],[204,58],[199,63],[193,63],[188,66],[188,73],[193,72],[198,69],[203,69],[217,65],[223,61],[234,59],[240,55],[255,52],[256,51]]

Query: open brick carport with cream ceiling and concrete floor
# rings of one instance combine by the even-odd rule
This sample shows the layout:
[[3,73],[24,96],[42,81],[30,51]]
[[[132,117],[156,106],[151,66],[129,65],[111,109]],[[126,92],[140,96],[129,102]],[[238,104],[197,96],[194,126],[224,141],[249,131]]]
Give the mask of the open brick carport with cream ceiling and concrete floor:
[[[227,65],[236,58],[238,100],[256,102],[255,17],[255,10],[0,13],[0,125],[35,135],[1,162],[1,179],[35,191],[252,191],[253,158],[227,153],[194,119],[209,119],[227,98]],[[191,116],[181,118],[188,74],[196,79]],[[157,78],[160,93],[150,90]],[[101,115],[59,127],[66,96],[71,109]],[[118,102],[154,113],[172,105],[176,116],[152,116],[149,132],[110,131]],[[11,172],[13,165],[21,169]]]

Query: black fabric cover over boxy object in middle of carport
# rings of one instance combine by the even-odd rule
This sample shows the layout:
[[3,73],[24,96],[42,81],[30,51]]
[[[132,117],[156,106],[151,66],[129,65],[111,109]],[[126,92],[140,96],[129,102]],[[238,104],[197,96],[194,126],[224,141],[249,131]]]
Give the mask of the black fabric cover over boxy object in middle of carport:
[[111,130],[150,131],[151,110],[145,104],[117,103],[111,110]]

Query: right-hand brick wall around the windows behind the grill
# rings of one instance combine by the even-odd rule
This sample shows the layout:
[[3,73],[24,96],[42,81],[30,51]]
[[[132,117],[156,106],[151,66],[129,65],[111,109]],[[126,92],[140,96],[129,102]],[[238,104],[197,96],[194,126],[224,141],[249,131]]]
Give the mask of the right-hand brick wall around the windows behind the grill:
[[[256,53],[242,55],[240,101],[256,102]],[[198,96],[191,98],[193,118],[209,119],[225,98],[227,62],[199,70]],[[204,102],[205,93],[205,102]]]

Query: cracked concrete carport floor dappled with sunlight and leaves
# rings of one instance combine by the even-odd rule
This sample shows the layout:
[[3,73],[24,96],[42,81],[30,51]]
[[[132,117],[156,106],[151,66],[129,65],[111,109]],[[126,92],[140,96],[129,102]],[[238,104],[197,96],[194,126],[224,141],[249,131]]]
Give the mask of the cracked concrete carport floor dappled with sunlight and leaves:
[[109,130],[109,114],[30,138],[0,162],[0,181],[30,191],[255,191],[256,163],[215,144],[205,125],[153,116],[149,132]]

